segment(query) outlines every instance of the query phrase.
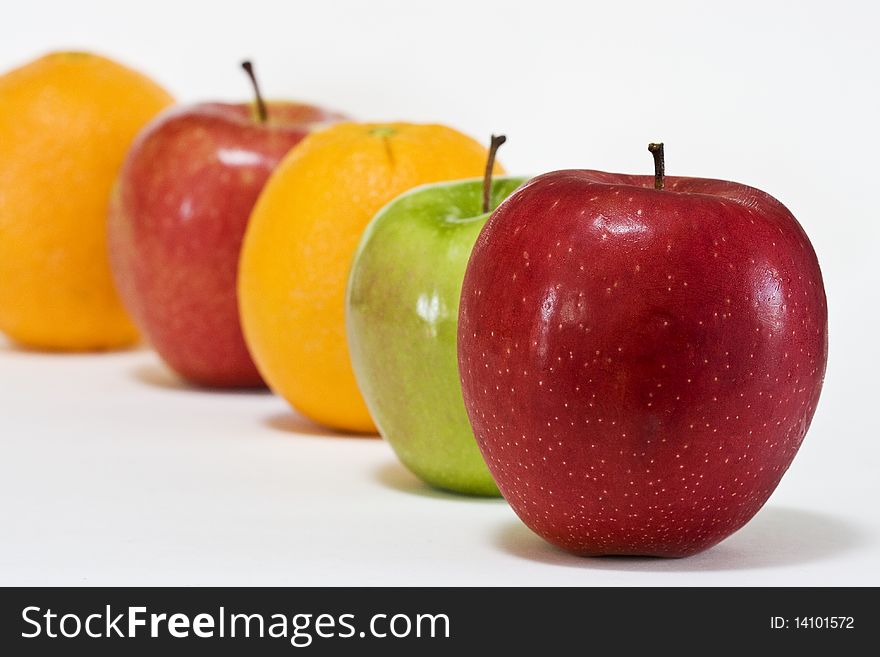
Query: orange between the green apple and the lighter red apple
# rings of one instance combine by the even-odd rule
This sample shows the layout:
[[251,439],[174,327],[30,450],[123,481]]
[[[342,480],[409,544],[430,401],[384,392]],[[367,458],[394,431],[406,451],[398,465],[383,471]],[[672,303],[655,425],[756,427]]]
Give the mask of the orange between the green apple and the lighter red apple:
[[297,411],[336,429],[375,432],[345,337],[358,240],[395,196],[482,175],[486,156],[441,125],[342,123],[306,137],[273,173],[245,234],[239,308],[260,373]]

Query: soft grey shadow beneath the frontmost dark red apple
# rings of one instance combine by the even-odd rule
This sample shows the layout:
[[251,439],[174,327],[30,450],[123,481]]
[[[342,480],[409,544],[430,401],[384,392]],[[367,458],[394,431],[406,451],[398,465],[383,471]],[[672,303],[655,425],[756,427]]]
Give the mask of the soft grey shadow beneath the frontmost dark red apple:
[[683,559],[578,557],[550,545],[518,520],[495,536],[503,551],[569,568],[631,572],[698,572],[772,568],[820,561],[850,551],[866,540],[853,524],[825,513],[766,507],[745,527],[705,552]]

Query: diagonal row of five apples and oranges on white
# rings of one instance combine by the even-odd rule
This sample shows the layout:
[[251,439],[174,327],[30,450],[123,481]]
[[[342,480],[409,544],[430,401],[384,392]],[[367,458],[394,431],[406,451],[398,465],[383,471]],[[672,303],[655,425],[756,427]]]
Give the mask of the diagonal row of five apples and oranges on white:
[[580,554],[692,554],[764,504],[827,358],[779,201],[666,176],[662,144],[653,175],[506,176],[503,137],[266,102],[243,67],[238,105],[87,53],[0,78],[0,330],[143,336]]

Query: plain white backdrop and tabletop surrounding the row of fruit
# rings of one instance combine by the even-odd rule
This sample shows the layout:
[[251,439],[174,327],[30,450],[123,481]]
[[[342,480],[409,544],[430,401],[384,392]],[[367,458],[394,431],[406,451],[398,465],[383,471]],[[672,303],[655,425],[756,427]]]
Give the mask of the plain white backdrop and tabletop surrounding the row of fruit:
[[578,559],[503,501],[431,491],[378,440],[146,351],[0,342],[2,584],[880,584],[876,3],[7,3],[0,69],[93,49],[183,102],[267,95],[504,132],[511,172],[720,177],[777,196],[825,275],[830,360],[767,507],[684,560]]

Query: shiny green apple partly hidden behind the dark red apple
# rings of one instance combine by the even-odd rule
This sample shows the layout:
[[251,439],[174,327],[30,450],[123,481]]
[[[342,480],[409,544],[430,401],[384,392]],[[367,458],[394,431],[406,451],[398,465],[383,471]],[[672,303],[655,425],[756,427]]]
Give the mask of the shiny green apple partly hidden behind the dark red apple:
[[[493,180],[496,207],[526,179]],[[489,218],[482,179],[424,185],[383,208],[355,254],[346,330],[358,387],[401,462],[437,488],[498,495],[458,376],[461,282]]]

